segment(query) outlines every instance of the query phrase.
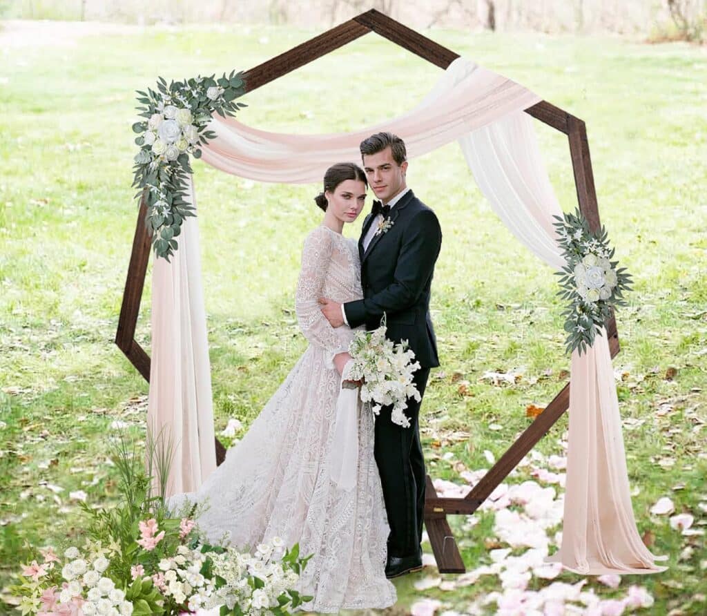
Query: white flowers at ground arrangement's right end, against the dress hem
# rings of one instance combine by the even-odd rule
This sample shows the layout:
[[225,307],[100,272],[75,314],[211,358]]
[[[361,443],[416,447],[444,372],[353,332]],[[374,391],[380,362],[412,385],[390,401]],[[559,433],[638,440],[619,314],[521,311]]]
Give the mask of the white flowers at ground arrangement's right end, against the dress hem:
[[[205,608],[226,605],[233,610],[238,604],[247,614],[267,613],[278,605],[277,598],[294,588],[299,579],[295,571],[284,566],[283,556],[284,542],[280,537],[259,544],[253,554],[242,554],[232,547],[223,554],[212,554],[214,573],[226,580],[226,584],[214,591]],[[252,588],[250,577],[257,577],[264,586]]]

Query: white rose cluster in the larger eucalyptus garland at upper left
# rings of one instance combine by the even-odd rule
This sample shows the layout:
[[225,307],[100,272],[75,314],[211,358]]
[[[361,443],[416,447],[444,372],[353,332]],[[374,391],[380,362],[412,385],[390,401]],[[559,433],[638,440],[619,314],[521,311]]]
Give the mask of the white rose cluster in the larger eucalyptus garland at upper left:
[[144,143],[155,156],[176,161],[182,152],[199,141],[199,128],[193,122],[192,111],[186,107],[164,105],[149,117]]

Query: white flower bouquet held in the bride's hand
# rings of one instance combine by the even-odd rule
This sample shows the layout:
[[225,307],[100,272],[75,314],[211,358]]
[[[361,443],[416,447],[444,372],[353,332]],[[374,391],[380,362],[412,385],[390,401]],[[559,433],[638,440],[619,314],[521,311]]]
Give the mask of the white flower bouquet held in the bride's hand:
[[379,414],[381,407],[393,405],[390,420],[394,424],[409,428],[410,421],[404,414],[407,399],[421,400],[419,391],[412,382],[414,371],[420,364],[407,341],[395,344],[385,337],[385,314],[380,327],[372,332],[356,332],[349,344],[353,366],[351,380],[361,380],[361,400],[374,402],[371,409]]

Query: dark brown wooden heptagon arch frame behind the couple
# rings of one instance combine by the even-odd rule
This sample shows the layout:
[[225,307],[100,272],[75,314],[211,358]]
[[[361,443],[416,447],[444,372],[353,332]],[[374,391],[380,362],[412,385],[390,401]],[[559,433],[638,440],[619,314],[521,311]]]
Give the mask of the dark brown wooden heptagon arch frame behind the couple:
[[[459,57],[455,52],[372,9],[250,69],[244,74],[245,91],[250,92],[264,86],[266,83],[308,64],[312,60],[325,56],[369,32],[375,32],[387,38],[396,45],[439,66],[440,69],[446,69],[452,60]],[[568,136],[580,211],[588,219],[592,230],[598,230],[600,228],[599,210],[585,123],[545,100],[528,107],[525,111],[537,120]],[[145,214],[146,204],[141,202],[115,344],[124,352],[145,380],[149,380],[150,358],[134,338],[147,263],[151,252],[150,237],[144,225]],[[614,357],[619,352],[619,336],[613,313],[607,322],[607,333],[609,348],[612,357]],[[466,497],[440,498],[433,487],[431,478],[429,475],[427,476],[425,525],[440,572],[462,573],[465,571],[447,516],[450,514],[469,515],[479,508],[498,484],[506,478],[534,447],[535,443],[566,411],[569,405],[569,391],[570,386],[567,383]],[[223,462],[225,453],[223,446],[216,439],[216,459],[219,464]]]

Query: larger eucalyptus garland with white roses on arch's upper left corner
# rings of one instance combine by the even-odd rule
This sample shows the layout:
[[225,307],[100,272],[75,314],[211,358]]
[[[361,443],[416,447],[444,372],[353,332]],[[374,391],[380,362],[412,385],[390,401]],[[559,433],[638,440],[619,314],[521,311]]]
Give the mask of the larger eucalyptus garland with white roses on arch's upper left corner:
[[221,117],[233,116],[244,103],[235,99],[245,93],[242,73],[231,71],[219,79],[197,76],[169,85],[159,77],[157,91],[137,91],[139,116],[145,120],[132,126],[138,133],[135,143],[140,151],[135,156],[133,187],[135,195],[146,196],[145,225],[152,236],[156,257],[177,250],[182,223],[196,216],[194,207],[185,201],[188,174],[192,173],[189,154],[201,156],[199,146],[214,139],[216,133],[205,130],[214,112]]

